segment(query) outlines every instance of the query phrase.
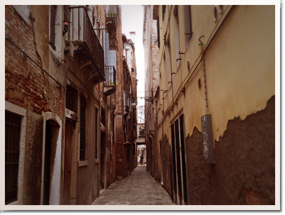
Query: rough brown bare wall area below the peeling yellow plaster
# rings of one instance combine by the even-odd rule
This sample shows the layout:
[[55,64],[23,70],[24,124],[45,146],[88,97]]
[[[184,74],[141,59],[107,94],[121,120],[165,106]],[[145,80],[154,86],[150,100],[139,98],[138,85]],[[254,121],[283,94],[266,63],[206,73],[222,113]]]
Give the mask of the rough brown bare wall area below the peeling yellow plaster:
[[230,120],[204,163],[202,133],[186,137],[191,205],[275,204],[275,96],[264,110]]

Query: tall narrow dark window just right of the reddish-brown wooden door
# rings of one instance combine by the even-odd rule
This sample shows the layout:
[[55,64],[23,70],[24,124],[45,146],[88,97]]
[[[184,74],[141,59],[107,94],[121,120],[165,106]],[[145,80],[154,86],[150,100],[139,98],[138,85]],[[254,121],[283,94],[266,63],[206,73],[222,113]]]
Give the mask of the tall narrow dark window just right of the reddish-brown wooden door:
[[83,95],[80,96],[80,160],[84,161],[85,159],[85,114],[86,114],[86,99]]

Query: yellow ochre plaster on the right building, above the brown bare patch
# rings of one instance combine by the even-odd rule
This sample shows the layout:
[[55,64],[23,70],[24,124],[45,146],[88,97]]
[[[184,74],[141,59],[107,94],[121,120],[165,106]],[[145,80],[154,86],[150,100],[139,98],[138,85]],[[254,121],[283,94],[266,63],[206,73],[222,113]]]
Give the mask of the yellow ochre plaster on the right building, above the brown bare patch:
[[[176,71],[174,5],[166,5],[164,21],[161,19],[162,5],[159,5],[161,89],[165,89],[163,61],[165,33],[166,40],[170,34],[171,72],[176,74],[172,75],[173,89],[167,84],[168,92],[164,93],[165,99],[162,100],[162,96],[160,98],[163,105],[158,110],[158,141],[163,134],[168,135],[170,139],[170,121],[181,109],[185,116],[185,136],[188,134],[191,136],[195,127],[202,131],[201,117],[206,114],[204,63],[200,62],[201,49],[198,45],[202,35],[204,35],[201,38],[204,50],[207,48],[204,54],[206,90],[214,140],[219,141],[220,136],[223,136],[229,120],[235,117],[244,120],[246,116],[263,110],[267,101],[275,95],[275,6],[232,7],[232,5],[223,5],[223,11],[222,13],[218,11],[215,22],[214,5],[192,5],[193,35],[185,49],[184,9],[183,5],[178,5],[180,52],[185,54],[180,55],[181,64]],[[218,30],[227,14],[228,17]],[[215,38],[209,43],[217,30]],[[187,68],[188,60],[190,72]],[[165,61],[167,73],[166,53]],[[166,77],[167,82],[171,81],[168,80],[167,74]],[[198,86],[199,79],[201,87]],[[184,86],[185,96],[181,92]],[[174,101],[177,98],[177,105],[173,105],[173,111],[172,96]],[[164,114],[161,112],[162,109]]]

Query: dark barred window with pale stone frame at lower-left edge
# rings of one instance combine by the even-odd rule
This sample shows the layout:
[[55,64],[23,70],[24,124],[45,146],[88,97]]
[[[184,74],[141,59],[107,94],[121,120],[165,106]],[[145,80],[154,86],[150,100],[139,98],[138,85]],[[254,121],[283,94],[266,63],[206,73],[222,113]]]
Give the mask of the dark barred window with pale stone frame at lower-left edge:
[[[20,122],[19,119],[21,119]],[[11,126],[10,124],[15,124],[15,125]],[[20,134],[18,129],[19,126],[20,126]],[[8,205],[23,204],[22,199],[23,199],[26,135],[22,134],[26,133],[27,130],[26,128],[27,128],[27,110],[17,105],[14,105],[8,101],[5,101],[5,204]],[[19,140],[17,140],[18,137],[20,138]],[[19,144],[19,149],[17,149],[18,144]],[[13,164],[14,167],[12,167],[12,164],[8,163],[14,163]],[[12,168],[15,169],[18,168],[18,171],[13,172],[14,175],[9,174],[9,172],[11,173]],[[15,197],[15,192],[12,193],[13,189],[16,190],[16,195],[17,195],[16,197]]]

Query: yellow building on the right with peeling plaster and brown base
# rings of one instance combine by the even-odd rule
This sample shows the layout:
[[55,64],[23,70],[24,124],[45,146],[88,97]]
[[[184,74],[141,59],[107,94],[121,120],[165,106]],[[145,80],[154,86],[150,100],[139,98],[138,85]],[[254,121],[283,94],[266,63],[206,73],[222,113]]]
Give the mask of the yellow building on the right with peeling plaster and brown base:
[[274,5],[155,5],[152,18],[164,188],[177,205],[274,205]]

